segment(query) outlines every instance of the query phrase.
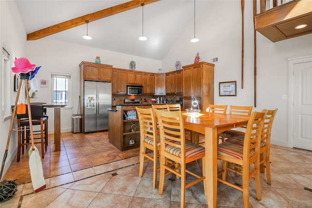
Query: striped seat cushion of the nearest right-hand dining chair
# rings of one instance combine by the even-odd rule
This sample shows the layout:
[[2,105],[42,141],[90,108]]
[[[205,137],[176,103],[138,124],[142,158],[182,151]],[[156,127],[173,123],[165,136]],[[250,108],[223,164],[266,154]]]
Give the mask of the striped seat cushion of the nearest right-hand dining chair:
[[[221,144],[218,144],[217,153],[224,155],[224,156],[242,160],[243,159],[243,146],[234,144],[232,142],[223,142]],[[254,150],[250,150],[249,157],[252,157],[253,155],[254,155]]]

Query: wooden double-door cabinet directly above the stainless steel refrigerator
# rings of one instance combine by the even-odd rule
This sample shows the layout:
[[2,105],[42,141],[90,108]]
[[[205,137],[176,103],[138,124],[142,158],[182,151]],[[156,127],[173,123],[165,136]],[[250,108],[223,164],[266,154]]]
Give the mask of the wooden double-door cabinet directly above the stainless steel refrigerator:
[[82,61],[79,67],[83,70],[84,80],[112,81],[112,65]]

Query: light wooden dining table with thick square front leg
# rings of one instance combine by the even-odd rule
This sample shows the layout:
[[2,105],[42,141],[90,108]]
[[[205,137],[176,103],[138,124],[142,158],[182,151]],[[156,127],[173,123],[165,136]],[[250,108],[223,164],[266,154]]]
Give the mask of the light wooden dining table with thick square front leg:
[[208,112],[200,112],[193,116],[186,112],[182,112],[182,114],[185,129],[205,134],[207,202],[209,208],[215,208],[218,133],[247,125],[249,116]]

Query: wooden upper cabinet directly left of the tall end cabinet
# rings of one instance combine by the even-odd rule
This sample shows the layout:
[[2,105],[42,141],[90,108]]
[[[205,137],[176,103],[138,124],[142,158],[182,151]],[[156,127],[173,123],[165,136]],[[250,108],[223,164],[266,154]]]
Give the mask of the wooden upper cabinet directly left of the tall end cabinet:
[[166,95],[182,95],[182,70],[166,73]]

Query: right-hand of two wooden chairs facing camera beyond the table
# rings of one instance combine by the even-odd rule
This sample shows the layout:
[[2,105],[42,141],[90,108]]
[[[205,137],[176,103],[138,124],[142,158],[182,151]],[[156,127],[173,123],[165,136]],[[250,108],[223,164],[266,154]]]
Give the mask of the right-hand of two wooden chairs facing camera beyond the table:
[[[253,106],[230,106],[230,114],[241,114],[241,115],[248,115],[250,116],[253,110]],[[246,128],[246,127],[241,127]],[[243,136],[245,132],[238,131],[238,130],[227,130],[225,132],[221,132],[218,134],[219,138],[222,139],[222,142],[225,141],[225,138],[231,138],[233,136]]]

